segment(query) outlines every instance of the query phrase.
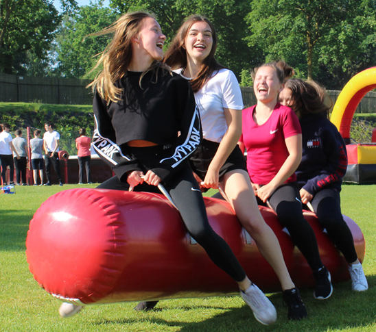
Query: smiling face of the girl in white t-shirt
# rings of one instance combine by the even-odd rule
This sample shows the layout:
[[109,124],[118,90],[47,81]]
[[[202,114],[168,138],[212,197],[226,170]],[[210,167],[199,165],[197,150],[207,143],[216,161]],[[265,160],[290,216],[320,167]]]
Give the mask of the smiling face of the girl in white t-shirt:
[[191,25],[185,37],[187,58],[202,63],[213,47],[213,36],[208,23],[196,22]]

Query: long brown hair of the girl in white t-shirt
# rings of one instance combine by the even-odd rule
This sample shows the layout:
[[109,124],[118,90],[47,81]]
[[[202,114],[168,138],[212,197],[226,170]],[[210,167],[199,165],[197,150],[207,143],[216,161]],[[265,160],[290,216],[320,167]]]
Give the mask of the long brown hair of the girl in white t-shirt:
[[202,62],[202,66],[198,75],[191,80],[191,87],[193,92],[197,92],[213,75],[215,71],[225,68],[217,62],[214,58],[215,50],[217,49],[218,38],[213,24],[209,18],[202,15],[191,15],[185,19],[181,27],[178,29],[174,40],[172,40],[169,48],[165,54],[164,62],[171,66],[172,69],[185,68],[187,66],[187,51],[185,50],[185,38],[187,38],[189,29],[196,22],[206,22],[211,28],[211,36],[213,38],[213,46],[207,58]]

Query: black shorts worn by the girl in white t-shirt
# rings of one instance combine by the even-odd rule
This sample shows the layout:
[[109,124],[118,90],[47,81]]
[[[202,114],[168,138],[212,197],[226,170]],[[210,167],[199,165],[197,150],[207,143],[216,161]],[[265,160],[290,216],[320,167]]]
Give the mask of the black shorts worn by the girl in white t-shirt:
[[[213,160],[215,153],[217,153],[220,143],[211,142],[210,140],[202,140],[200,146],[191,155],[189,160],[191,168],[202,180],[207,175],[209,164]],[[226,162],[220,169],[220,181],[222,177],[231,170],[245,170],[247,172],[246,158],[244,157],[239,145],[235,146],[233,152],[228,156]]]

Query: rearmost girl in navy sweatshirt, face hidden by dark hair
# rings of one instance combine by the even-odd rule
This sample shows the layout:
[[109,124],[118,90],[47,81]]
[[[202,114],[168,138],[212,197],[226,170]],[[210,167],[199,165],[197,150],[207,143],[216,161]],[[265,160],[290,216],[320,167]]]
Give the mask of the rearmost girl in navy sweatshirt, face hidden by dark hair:
[[301,79],[287,80],[279,94],[280,103],[292,107],[301,123],[303,157],[296,177],[302,203],[312,203],[318,221],[349,263],[353,290],[361,292],[368,289],[368,283],[340,207],[342,177],[347,167],[346,145],[329,121],[328,100],[325,89],[314,81]]

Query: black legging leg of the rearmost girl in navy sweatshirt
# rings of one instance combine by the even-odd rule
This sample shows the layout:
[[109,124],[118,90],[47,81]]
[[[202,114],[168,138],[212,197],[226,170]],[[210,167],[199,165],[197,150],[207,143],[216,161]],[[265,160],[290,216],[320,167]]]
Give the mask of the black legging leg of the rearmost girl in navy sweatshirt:
[[357,260],[353,234],[343,219],[340,192],[334,188],[320,190],[312,199],[312,206],[320,225],[327,229],[333,244],[344,255],[347,262]]

